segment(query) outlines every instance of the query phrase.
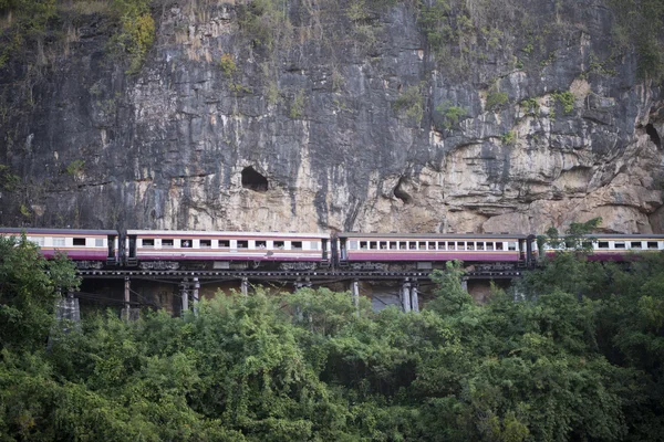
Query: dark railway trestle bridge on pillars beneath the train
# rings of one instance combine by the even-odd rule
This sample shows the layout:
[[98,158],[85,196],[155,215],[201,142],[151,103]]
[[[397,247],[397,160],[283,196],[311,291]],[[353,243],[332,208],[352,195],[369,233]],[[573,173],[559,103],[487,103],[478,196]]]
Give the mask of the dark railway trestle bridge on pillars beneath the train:
[[[469,267],[463,285],[473,288],[488,287],[488,282],[508,284],[520,277],[521,270]],[[136,317],[139,307],[167,308],[178,315],[204,296],[217,291],[232,290],[249,295],[253,286],[294,291],[301,287],[331,287],[350,291],[355,302],[361,295],[372,301],[378,311],[396,305],[404,312],[419,312],[421,298],[430,297],[433,283],[430,270],[403,272],[359,270],[311,271],[184,271],[184,270],[79,270],[83,280],[80,292],[70,292],[62,301],[59,317],[77,320],[79,299],[94,304],[122,307],[126,318]]]

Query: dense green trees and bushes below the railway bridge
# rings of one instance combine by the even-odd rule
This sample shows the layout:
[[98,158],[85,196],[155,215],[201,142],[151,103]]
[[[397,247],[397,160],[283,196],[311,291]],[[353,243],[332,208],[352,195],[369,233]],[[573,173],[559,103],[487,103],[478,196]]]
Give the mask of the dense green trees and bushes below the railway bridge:
[[[459,267],[421,314],[326,290],[56,327],[75,284],[0,242],[0,440],[653,440],[664,434],[664,256],[560,254],[519,301]],[[46,270],[50,270],[46,272]],[[46,335],[51,335],[46,344]]]

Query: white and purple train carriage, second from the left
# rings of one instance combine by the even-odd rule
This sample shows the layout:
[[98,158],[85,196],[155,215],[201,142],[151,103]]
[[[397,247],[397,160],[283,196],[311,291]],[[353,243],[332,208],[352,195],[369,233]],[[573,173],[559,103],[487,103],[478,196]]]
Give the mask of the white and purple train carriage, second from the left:
[[230,269],[243,262],[328,262],[329,235],[323,233],[205,232],[129,230],[127,263],[145,269],[169,267],[164,262],[187,262],[198,269]]

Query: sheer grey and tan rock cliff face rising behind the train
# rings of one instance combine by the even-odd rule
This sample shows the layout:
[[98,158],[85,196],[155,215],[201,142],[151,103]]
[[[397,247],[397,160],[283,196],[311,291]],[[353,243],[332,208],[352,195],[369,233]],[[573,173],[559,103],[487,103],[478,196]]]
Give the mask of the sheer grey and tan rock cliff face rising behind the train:
[[0,223],[664,231],[664,99],[611,9],[437,4],[154,2],[135,74],[82,14],[0,71]]

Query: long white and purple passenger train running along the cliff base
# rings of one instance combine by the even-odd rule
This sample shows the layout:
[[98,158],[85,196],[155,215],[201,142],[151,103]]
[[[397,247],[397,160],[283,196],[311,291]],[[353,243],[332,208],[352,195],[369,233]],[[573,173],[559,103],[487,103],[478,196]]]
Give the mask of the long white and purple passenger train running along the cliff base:
[[[179,230],[80,230],[0,228],[2,236],[24,234],[53,257],[66,254],[79,269],[434,270],[445,262],[500,269],[531,267],[554,253],[535,234],[512,233],[297,233]],[[593,234],[590,259],[624,261],[634,253],[664,250],[663,234]],[[564,246],[562,246],[564,248]]]

